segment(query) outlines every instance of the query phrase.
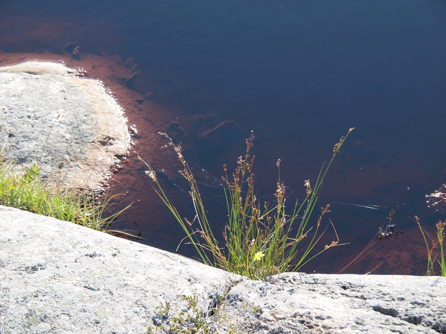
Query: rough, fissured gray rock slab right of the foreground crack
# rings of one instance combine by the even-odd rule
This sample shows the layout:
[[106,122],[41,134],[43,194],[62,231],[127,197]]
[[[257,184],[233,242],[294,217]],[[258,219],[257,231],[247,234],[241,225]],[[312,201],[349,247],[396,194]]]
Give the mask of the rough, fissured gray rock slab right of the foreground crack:
[[446,277],[289,273],[226,302],[243,333],[446,333]]

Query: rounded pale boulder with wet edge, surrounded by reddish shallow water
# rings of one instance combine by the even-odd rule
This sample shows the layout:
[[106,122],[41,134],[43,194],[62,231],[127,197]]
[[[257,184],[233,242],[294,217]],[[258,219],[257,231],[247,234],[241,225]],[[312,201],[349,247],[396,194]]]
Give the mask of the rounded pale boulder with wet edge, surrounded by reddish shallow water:
[[123,110],[98,80],[62,63],[0,67],[0,148],[18,166],[36,162],[65,188],[95,188],[130,135]]

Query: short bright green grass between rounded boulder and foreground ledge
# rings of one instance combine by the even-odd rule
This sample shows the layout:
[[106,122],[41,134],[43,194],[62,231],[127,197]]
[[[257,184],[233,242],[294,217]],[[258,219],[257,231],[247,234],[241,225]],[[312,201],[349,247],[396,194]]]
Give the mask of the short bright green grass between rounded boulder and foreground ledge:
[[105,212],[109,211],[107,206],[113,197],[100,204],[93,194],[79,196],[68,190],[61,191],[48,182],[42,182],[40,167],[36,163],[31,167],[24,167],[20,172],[14,168],[12,162],[7,162],[0,154],[1,205],[104,231],[111,221],[126,209],[104,217]]

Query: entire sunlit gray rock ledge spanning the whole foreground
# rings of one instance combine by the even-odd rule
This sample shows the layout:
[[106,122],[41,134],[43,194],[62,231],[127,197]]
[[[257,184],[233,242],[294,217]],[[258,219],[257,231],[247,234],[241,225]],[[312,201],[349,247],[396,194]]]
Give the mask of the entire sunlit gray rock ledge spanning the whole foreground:
[[220,332],[446,333],[446,277],[292,273],[251,281],[0,206],[0,333],[145,333],[160,302],[179,313],[187,309],[182,296],[194,294],[204,310],[224,297]]

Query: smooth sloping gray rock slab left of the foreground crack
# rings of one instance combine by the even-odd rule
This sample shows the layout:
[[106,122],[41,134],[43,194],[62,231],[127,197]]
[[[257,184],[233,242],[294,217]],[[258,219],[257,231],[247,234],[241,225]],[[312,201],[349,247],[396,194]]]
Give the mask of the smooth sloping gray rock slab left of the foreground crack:
[[[227,293],[231,275],[73,223],[0,206],[0,333],[144,333],[155,307]],[[207,305],[206,305],[207,307]]]

